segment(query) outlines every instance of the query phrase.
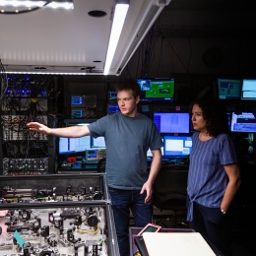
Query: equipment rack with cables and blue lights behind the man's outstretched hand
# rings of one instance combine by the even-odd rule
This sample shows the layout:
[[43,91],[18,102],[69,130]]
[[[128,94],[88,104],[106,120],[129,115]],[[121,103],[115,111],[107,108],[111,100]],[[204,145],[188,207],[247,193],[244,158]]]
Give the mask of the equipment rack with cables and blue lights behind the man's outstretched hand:
[[1,81],[0,174],[47,174],[55,170],[52,136],[30,132],[27,123],[55,124],[54,79],[49,75],[6,75]]

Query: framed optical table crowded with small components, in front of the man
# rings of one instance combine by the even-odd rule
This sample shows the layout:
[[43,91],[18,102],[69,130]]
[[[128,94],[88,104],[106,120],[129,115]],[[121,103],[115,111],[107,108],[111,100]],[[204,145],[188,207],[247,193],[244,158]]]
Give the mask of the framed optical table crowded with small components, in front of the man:
[[119,256],[104,174],[27,178],[0,180],[1,255]]

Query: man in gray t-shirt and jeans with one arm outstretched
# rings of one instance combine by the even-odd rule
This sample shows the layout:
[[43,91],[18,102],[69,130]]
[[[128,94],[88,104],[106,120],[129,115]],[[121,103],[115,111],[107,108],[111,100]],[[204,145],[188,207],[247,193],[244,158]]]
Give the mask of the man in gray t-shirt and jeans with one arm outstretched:
[[[151,223],[153,183],[160,169],[162,141],[150,118],[138,112],[140,86],[128,79],[116,84],[120,111],[98,119],[89,126],[51,129],[31,122],[30,130],[47,135],[78,138],[103,136],[106,144],[106,178],[111,197],[120,256],[129,256],[130,210],[136,226]],[[153,160],[147,169],[146,154],[151,149]]]

